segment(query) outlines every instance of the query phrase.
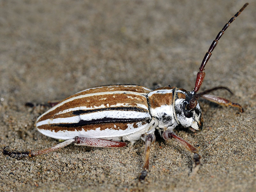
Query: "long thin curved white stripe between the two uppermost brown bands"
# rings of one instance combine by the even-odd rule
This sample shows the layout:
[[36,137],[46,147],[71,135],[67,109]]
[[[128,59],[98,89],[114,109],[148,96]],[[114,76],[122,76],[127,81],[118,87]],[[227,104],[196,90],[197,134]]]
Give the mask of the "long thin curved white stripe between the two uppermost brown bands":
[[64,100],[61,103],[58,103],[53,108],[49,109],[48,111],[43,113],[41,116],[39,116],[36,121],[38,121],[42,116],[49,113],[50,111],[53,111],[56,108],[62,106],[63,104],[68,103],[68,102],[73,101],[73,100],[76,100],[76,99],[81,99],[81,98],[91,97],[91,96],[97,96],[97,95],[111,95],[111,94],[121,94],[121,93],[134,94],[134,95],[140,95],[140,96],[145,96],[147,94],[147,93],[137,93],[137,92],[132,92],[132,91],[111,91],[111,92],[98,92],[98,93],[88,93],[88,94],[84,94],[84,95],[78,95],[76,97],[71,97],[67,100]]

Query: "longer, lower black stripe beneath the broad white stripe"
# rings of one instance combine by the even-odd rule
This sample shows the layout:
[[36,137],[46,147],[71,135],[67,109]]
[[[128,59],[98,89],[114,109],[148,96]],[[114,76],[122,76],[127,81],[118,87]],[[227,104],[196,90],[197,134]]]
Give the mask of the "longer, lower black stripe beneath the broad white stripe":
[[80,120],[78,123],[60,123],[60,124],[50,124],[51,126],[59,127],[78,127],[83,125],[92,125],[92,124],[101,124],[101,123],[136,123],[136,122],[147,122],[151,121],[150,117],[147,118],[137,118],[137,119],[121,119],[121,118],[111,118],[103,117],[101,119],[92,119],[92,120]]

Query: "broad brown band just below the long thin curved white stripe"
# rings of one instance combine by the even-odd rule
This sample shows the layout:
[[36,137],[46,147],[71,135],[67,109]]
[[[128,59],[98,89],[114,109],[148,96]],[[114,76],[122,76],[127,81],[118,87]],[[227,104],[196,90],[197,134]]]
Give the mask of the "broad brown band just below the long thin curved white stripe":
[[[124,93],[94,95],[90,97],[75,99],[70,102],[64,103],[63,105],[57,107],[53,111],[49,111],[48,113],[46,113],[37,122],[40,122],[46,119],[56,118],[56,114],[58,112],[69,109],[69,108],[76,108],[76,107],[93,108],[95,106],[99,107],[102,104],[107,108],[107,107],[111,107],[112,105],[116,105],[117,103],[129,103],[130,106],[134,106],[134,107],[138,107],[136,103],[148,106],[147,98],[143,95],[124,94]],[[71,113],[67,113],[66,117],[69,117],[68,115],[71,115]]]

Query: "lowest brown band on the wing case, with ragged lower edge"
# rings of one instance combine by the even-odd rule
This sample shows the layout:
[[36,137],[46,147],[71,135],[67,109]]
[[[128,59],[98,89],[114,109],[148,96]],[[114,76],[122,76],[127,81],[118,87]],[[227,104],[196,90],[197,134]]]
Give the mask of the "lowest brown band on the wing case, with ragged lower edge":
[[100,130],[105,129],[112,129],[112,130],[126,130],[128,128],[128,124],[132,124],[134,128],[138,127],[138,124],[147,124],[147,121],[139,121],[139,122],[132,122],[132,123],[102,123],[102,124],[91,124],[91,125],[83,125],[83,126],[77,126],[77,127],[60,127],[60,126],[51,126],[51,125],[41,125],[37,128],[44,129],[44,130],[50,130],[54,132],[58,131],[89,131],[89,130],[96,130],[97,128],[100,128]]

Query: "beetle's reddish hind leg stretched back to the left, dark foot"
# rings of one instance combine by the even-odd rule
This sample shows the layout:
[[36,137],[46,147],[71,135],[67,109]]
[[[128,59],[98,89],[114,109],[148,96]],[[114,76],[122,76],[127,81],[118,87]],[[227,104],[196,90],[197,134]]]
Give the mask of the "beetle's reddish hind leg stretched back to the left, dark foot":
[[75,137],[64,142],[61,142],[57,145],[53,145],[50,148],[44,148],[40,150],[30,150],[29,152],[9,152],[3,148],[3,154],[8,155],[13,158],[22,158],[22,157],[33,157],[38,155],[47,154],[67,145],[75,143],[75,145],[84,145],[89,147],[106,147],[106,148],[114,148],[114,147],[125,147],[127,143],[119,142],[119,141],[109,141],[103,139],[94,139],[94,138],[86,138],[86,137]]

